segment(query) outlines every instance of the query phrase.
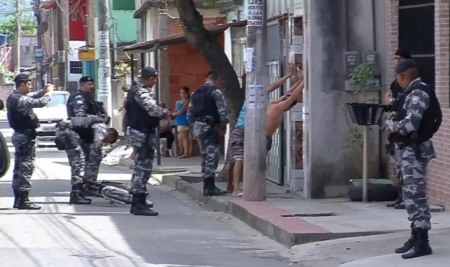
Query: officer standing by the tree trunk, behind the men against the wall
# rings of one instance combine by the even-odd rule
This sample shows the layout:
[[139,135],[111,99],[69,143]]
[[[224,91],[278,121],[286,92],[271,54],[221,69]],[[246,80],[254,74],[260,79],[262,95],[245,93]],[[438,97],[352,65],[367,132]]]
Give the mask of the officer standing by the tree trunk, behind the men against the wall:
[[187,119],[202,153],[203,195],[220,196],[227,192],[216,187],[214,179],[219,165],[218,134],[226,130],[228,112],[216,72],[206,74],[206,83],[193,92]]

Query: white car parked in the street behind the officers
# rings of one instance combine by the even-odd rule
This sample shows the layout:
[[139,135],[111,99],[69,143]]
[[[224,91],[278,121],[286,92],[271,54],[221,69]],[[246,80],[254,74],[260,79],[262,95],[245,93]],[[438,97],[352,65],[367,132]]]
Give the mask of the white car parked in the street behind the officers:
[[33,109],[40,122],[37,129],[38,145],[40,141],[54,142],[56,123],[67,119],[66,102],[69,96],[69,92],[54,91],[47,106]]

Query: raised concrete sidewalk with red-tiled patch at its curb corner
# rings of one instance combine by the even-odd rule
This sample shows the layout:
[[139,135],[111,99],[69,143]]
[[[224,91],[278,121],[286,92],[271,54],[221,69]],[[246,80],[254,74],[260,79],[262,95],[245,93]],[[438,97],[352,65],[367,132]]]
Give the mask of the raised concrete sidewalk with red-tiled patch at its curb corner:
[[[195,175],[164,175],[162,182],[201,201],[212,211],[228,212],[262,234],[291,247],[295,244],[379,235],[409,229],[405,210],[386,208],[386,203],[356,203],[347,199],[302,199],[282,187],[267,184],[265,202],[242,198],[204,197],[202,183]],[[225,183],[216,183],[225,189]],[[450,214],[432,206],[433,229],[450,225]]]

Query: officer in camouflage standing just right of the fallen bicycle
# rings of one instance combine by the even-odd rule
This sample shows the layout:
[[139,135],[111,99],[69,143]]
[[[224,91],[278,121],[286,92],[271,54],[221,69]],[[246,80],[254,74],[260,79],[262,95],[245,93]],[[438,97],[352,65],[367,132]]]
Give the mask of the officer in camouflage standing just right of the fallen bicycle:
[[158,215],[158,212],[147,206],[147,182],[152,176],[153,157],[159,140],[155,129],[159,125],[159,119],[170,115],[170,111],[158,106],[153,92],[149,91],[157,82],[157,77],[156,69],[141,69],[139,82],[130,87],[125,99],[126,116],[130,125],[129,140],[136,153],[131,175],[133,200],[130,213],[134,215]]

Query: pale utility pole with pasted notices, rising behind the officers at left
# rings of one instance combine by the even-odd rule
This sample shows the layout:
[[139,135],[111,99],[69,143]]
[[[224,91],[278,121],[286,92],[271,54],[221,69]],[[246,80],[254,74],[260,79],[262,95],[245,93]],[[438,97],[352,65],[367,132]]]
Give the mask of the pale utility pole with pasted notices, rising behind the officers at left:
[[109,49],[109,7],[108,0],[99,0],[99,31],[97,33],[97,60],[99,63],[99,100],[103,101],[109,116],[111,109],[111,53]]

